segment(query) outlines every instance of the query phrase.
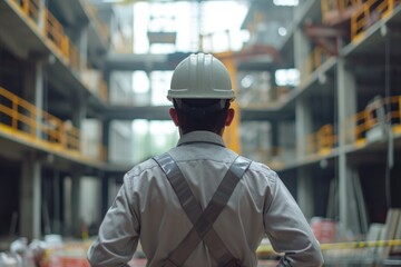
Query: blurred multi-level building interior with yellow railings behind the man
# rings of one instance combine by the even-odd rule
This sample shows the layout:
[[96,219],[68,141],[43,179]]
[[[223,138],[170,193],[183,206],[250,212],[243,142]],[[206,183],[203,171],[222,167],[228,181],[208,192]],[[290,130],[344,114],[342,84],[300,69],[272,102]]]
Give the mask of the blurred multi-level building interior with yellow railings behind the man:
[[238,96],[227,146],[280,175],[326,266],[401,266],[401,1],[233,1],[239,44],[202,27],[218,3],[0,0],[0,250],[96,236],[124,174],[176,145],[169,79],[205,51]]

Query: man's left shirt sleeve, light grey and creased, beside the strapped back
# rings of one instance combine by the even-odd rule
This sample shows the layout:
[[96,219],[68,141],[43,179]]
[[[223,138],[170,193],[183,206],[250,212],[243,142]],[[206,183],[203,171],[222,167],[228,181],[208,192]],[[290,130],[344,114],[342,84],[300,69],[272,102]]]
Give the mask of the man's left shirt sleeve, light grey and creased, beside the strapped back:
[[87,253],[90,266],[128,266],[138,245],[139,221],[133,208],[134,194],[130,181],[119,189],[107,211],[95,243]]

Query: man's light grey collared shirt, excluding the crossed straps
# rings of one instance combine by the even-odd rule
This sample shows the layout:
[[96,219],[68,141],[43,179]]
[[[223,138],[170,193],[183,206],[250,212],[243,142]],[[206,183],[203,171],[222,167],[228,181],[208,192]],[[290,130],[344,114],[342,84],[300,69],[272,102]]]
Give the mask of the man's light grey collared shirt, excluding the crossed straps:
[[[236,154],[213,132],[184,135],[168,151],[204,209]],[[154,159],[129,170],[88,250],[92,266],[124,266],[140,240],[147,266],[160,267],[192,229],[168,179]],[[278,266],[322,266],[320,246],[297,204],[276,172],[253,161],[214,224],[243,266],[257,266],[256,248],[267,235],[285,257]],[[291,265],[287,265],[290,263]],[[216,266],[199,243],[184,266]]]

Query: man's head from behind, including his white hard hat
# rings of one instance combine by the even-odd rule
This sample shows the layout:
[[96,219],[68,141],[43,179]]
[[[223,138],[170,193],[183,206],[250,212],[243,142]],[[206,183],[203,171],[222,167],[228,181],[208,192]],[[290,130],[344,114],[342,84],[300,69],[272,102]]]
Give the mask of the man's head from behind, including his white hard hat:
[[197,53],[178,63],[167,98],[177,110],[183,134],[194,130],[218,134],[235,93],[226,67],[212,55]]

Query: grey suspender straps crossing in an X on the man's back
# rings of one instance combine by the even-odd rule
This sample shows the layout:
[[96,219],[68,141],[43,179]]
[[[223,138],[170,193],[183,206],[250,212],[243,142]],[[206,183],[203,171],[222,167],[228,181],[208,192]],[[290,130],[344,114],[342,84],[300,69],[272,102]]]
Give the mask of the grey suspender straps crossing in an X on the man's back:
[[235,265],[235,258],[225,247],[217,233],[213,229],[213,224],[226,206],[234,188],[251,165],[251,161],[243,157],[237,157],[235,159],[205,211],[202,211],[200,205],[192,194],[190,188],[175,160],[168,154],[164,154],[154,159],[166,174],[183,209],[194,225],[193,229],[169,256],[164,266],[182,266],[200,240],[205,241],[213,257],[218,263],[218,266]]

